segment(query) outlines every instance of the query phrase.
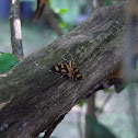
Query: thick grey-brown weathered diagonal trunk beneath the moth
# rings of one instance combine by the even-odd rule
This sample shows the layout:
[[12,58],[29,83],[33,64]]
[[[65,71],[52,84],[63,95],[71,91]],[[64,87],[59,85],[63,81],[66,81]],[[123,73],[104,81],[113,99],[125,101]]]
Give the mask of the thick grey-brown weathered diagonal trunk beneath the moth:
[[[74,30],[0,76],[0,137],[33,138],[120,67],[125,53],[124,4],[99,9]],[[48,71],[76,58],[82,81]]]

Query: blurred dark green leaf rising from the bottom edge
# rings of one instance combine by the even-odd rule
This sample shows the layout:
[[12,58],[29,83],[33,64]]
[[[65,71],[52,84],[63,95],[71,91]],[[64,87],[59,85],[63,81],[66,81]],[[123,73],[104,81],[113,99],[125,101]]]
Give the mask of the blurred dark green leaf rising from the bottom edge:
[[115,135],[104,125],[97,122],[97,119],[91,115],[85,115],[88,125],[87,138],[116,138]]

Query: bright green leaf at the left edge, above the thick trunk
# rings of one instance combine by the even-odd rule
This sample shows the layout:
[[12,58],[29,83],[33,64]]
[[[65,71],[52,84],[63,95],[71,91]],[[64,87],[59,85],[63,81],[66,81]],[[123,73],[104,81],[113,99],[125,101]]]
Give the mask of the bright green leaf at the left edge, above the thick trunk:
[[0,55],[0,72],[5,72],[19,64],[19,59],[10,54],[5,53]]

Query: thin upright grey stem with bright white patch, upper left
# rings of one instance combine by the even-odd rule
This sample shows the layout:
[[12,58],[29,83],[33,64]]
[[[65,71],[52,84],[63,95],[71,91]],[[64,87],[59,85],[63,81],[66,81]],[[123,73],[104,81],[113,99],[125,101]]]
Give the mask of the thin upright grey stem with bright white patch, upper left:
[[10,0],[10,26],[11,26],[11,44],[12,53],[19,59],[23,58],[21,20],[20,20],[20,0]]

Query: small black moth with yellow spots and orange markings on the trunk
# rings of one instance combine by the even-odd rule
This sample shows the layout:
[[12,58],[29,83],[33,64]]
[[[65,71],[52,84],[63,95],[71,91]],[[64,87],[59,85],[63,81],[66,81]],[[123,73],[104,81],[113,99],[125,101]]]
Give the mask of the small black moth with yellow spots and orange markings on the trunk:
[[61,77],[69,78],[71,80],[82,80],[82,74],[73,60],[50,67],[49,71],[60,73]]

